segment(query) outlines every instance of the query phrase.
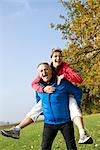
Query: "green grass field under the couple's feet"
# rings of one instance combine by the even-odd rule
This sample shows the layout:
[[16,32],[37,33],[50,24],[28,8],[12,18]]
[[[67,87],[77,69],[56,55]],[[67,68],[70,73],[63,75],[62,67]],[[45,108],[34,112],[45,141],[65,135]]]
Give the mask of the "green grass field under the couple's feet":
[[[91,134],[94,143],[78,144],[78,130],[75,127],[75,137],[78,150],[100,150],[100,114],[84,116],[84,124]],[[43,122],[37,122],[24,128],[19,140],[7,138],[0,134],[0,150],[41,150]],[[58,132],[52,150],[65,150],[65,142]]]

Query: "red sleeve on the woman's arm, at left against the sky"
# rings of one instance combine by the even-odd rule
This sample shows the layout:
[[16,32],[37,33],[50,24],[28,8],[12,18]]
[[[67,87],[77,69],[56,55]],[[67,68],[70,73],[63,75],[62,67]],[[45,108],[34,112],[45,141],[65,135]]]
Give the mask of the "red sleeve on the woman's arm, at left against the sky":
[[35,80],[32,82],[32,88],[35,90],[35,91],[38,91],[38,92],[43,92],[43,87],[41,85],[39,85],[39,81],[40,81],[40,77],[36,77]]

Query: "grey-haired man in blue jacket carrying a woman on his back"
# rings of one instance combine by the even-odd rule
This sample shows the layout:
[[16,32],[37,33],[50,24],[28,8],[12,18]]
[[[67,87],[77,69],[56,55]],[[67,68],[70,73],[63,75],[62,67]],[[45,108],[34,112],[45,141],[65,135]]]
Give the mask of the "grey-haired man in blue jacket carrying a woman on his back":
[[37,92],[38,99],[42,101],[44,114],[44,129],[42,139],[42,150],[51,150],[52,143],[60,130],[68,150],[77,150],[74,138],[73,123],[69,111],[69,94],[73,94],[77,104],[80,105],[82,92],[67,80],[62,80],[57,85],[57,77],[53,75],[48,63],[41,63],[37,67],[42,86],[52,85],[53,93]]

